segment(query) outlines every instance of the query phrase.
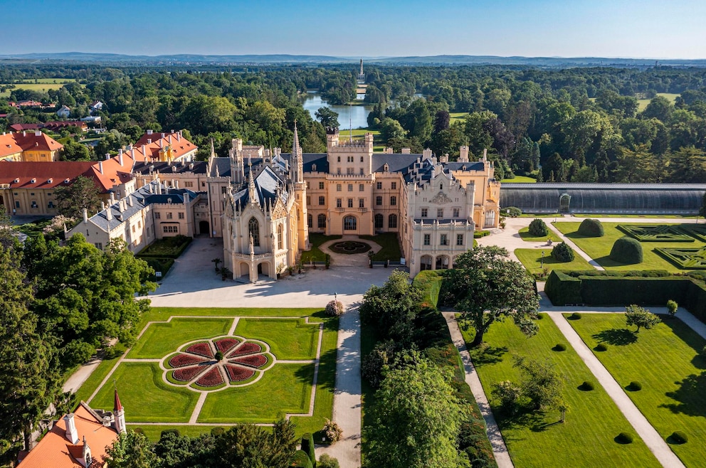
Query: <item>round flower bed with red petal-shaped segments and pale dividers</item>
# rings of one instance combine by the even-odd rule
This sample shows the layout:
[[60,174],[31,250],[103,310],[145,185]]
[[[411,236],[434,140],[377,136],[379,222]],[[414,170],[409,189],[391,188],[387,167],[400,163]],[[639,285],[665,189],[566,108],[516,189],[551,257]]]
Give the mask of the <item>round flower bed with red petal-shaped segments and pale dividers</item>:
[[[223,353],[221,361],[216,361],[218,351]],[[194,390],[248,385],[274,362],[267,344],[234,336],[186,344],[162,361],[170,383]]]

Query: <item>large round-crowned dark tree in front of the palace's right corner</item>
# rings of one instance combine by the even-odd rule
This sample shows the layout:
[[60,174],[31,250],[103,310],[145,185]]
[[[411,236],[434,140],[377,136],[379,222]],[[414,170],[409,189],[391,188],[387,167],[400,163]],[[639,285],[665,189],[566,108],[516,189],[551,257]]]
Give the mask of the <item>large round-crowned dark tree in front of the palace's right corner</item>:
[[505,248],[480,246],[459,255],[442,285],[444,302],[455,305],[463,321],[475,327],[471,346],[483,343],[490,325],[510,317],[522,333],[537,333],[539,296],[534,280],[518,262],[508,260]]

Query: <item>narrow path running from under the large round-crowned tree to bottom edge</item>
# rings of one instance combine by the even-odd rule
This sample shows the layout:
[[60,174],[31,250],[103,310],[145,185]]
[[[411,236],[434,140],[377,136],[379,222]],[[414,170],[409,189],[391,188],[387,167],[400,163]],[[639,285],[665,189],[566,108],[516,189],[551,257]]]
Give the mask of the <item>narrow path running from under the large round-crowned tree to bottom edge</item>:
[[485,432],[488,434],[488,439],[492,446],[492,454],[495,456],[497,467],[512,468],[514,465],[510,459],[510,454],[507,452],[507,447],[505,447],[505,440],[502,439],[500,428],[497,427],[495,416],[492,415],[488,398],[485,396],[485,390],[483,390],[483,384],[480,383],[478,373],[475,371],[473,361],[470,359],[470,353],[468,353],[468,350],[465,348],[465,341],[463,341],[463,335],[458,328],[455,312],[442,312],[442,315],[443,318],[446,319],[448,331],[451,333],[451,341],[453,341],[456,349],[458,349],[458,353],[461,355],[461,361],[463,361],[463,368],[465,370],[465,383],[468,383],[470,390],[473,392],[473,397],[476,403],[478,403],[478,408],[480,408],[480,414],[483,415],[483,419],[485,420]]

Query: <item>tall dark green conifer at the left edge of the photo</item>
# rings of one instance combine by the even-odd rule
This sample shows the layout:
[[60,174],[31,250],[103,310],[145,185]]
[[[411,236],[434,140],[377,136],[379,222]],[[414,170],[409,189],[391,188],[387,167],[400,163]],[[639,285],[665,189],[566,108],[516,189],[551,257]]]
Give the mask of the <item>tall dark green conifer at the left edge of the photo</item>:
[[46,409],[59,398],[56,349],[28,307],[32,290],[18,253],[0,245],[0,439],[22,434],[24,450]]

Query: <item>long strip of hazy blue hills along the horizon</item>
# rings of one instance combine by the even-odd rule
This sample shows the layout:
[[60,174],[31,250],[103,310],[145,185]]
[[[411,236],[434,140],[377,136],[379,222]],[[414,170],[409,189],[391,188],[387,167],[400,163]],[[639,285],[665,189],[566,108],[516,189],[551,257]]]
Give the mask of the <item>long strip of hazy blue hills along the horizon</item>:
[[[73,62],[139,65],[276,65],[355,63],[359,58],[332,55],[122,55],[117,53],[25,53],[0,55],[4,63]],[[365,63],[380,65],[525,65],[542,68],[566,67],[651,67],[655,64],[673,67],[706,67],[706,59],[654,60],[649,58],[601,57],[498,57],[495,55],[430,55],[409,57],[363,57]]]

